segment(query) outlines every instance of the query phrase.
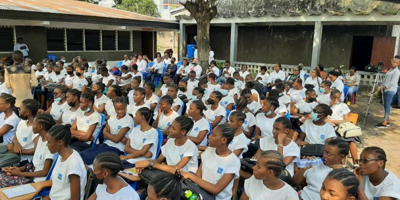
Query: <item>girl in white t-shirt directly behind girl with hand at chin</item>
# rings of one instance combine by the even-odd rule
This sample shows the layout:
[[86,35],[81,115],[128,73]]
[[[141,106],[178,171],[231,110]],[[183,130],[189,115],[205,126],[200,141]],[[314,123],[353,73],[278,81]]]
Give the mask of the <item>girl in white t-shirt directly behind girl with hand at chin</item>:
[[255,136],[251,140],[256,140],[264,136],[272,136],[273,122],[280,116],[275,113],[279,101],[274,96],[268,96],[264,99],[261,106],[261,112],[255,115]]

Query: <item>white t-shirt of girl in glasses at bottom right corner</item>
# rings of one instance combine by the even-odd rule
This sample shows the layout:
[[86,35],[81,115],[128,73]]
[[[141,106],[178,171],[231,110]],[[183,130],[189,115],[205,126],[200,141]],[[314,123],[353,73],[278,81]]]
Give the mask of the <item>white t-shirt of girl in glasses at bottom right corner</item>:
[[378,185],[373,185],[369,181],[367,175],[362,176],[360,185],[364,189],[364,193],[368,200],[374,200],[374,197],[389,196],[395,199],[400,199],[400,180],[389,169],[384,169],[388,172],[387,176]]

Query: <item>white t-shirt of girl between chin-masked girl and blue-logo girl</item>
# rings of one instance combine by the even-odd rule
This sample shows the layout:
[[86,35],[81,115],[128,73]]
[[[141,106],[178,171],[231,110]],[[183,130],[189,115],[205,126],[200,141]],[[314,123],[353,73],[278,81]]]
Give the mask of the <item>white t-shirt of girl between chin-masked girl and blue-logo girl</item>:
[[[132,117],[130,117],[128,114],[125,114],[125,116],[120,119],[116,118],[116,115],[110,116],[107,123],[109,125],[110,133],[113,135],[118,134],[119,131],[124,127],[128,127],[130,130],[130,128],[134,125]],[[126,137],[129,134],[129,130],[125,134]],[[125,144],[122,142],[113,142],[110,139],[105,140],[104,143],[108,146],[118,148],[120,151],[124,151],[125,148]]]

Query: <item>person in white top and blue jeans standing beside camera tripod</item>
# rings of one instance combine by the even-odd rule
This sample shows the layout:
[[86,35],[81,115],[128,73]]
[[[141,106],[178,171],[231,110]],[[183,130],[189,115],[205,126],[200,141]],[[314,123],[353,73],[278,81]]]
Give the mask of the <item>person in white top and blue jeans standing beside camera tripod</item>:
[[383,108],[384,108],[384,118],[383,121],[376,124],[377,128],[386,128],[389,124],[389,114],[390,114],[390,103],[393,99],[394,94],[397,92],[397,83],[400,76],[400,70],[398,66],[400,65],[400,58],[393,58],[391,61],[391,68],[386,73],[386,78],[382,84],[383,87]]

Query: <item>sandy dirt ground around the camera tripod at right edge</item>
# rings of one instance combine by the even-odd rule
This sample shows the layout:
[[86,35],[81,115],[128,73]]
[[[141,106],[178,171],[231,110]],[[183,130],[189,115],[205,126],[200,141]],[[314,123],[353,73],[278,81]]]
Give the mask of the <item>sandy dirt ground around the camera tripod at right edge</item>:
[[349,107],[351,112],[358,113],[357,125],[362,128],[362,143],[358,145],[358,155],[363,148],[367,146],[378,146],[386,152],[387,163],[386,168],[393,171],[397,176],[400,176],[400,109],[391,109],[389,122],[390,127],[386,129],[375,128],[374,125],[381,122],[383,119],[383,106],[380,103],[381,97],[374,97],[373,102],[369,106],[369,114],[366,117],[365,125],[362,126],[365,110],[368,104],[369,96],[358,96],[355,104]]

